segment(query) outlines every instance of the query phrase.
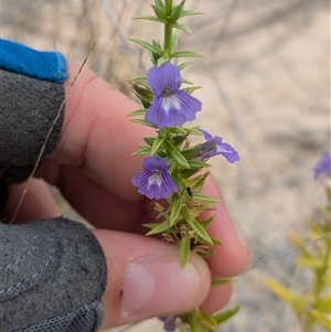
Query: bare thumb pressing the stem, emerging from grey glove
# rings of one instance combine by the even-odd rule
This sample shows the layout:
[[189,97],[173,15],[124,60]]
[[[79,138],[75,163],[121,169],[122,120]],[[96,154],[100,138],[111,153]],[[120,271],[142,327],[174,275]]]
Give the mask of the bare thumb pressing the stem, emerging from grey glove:
[[169,243],[105,229],[94,234],[108,267],[103,329],[185,312],[206,298],[211,274],[197,255],[182,268],[179,248]]

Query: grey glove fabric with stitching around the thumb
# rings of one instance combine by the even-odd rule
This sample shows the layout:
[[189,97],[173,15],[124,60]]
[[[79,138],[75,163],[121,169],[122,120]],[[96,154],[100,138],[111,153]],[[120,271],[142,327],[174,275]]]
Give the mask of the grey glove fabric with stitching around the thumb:
[[104,251],[63,217],[0,224],[1,332],[95,332],[107,283]]

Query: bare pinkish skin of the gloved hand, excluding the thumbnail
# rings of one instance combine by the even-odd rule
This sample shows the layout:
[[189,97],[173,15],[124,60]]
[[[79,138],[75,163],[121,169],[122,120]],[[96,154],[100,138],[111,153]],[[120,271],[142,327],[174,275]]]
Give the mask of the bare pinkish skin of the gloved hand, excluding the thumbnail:
[[[70,64],[64,86],[70,90],[79,67]],[[199,271],[195,283],[177,282],[178,290],[188,288],[186,299],[177,301],[163,297],[138,315],[124,314],[122,285],[130,261],[145,256],[179,257],[173,244],[143,235],[142,223],[150,222],[154,212],[150,202],[137,192],[131,178],[141,170],[141,158],[131,157],[142,137],[154,136],[150,128],[132,124],[126,115],[140,108],[109,84],[84,68],[67,94],[65,120],[61,140],[53,154],[38,170],[36,176],[60,188],[64,197],[96,228],[107,259],[108,285],[103,298],[105,320],[103,329],[137,322],[146,318],[185,312],[201,307],[207,312],[223,308],[232,286],[211,287],[212,276],[233,277],[248,263],[248,250],[228,215],[224,203],[215,204],[211,236],[224,243],[215,247],[213,258],[204,261],[191,254],[190,263]],[[4,210],[11,216],[25,184],[10,186]],[[221,199],[212,176],[204,191]],[[222,199],[221,199],[222,200]],[[58,216],[61,213],[44,182],[34,178],[18,213],[17,222]],[[125,244],[125,245],[124,245]],[[157,266],[156,266],[157,268]],[[173,271],[173,278],[177,278]],[[178,280],[181,280],[178,278]],[[175,293],[175,289],[166,293]]]

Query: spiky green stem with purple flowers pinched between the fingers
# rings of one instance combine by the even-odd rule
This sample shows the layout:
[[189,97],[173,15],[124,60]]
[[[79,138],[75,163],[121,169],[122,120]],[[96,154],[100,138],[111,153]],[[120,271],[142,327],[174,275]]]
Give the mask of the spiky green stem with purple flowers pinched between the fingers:
[[[192,51],[177,49],[180,30],[190,32],[189,26],[179,23],[183,17],[200,12],[185,10],[185,1],[173,4],[172,0],[154,0],[152,4],[156,17],[141,15],[137,19],[160,22],[164,25],[164,42],[151,43],[132,39],[149,51],[152,62],[147,75],[131,78],[130,83],[136,96],[141,100],[142,109],[131,113],[131,120],[156,129],[156,137],[145,138],[145,143],[136,156],[146,156],[142,171],[135,175],[132,183],[138,191],[153,200],[161,222],[146,224],[148,235],[161,234],[166,240],[180,246],[181,265],[184,267],[190,251],[194,250],[204,258],[213,255],[210,246],[221,245],[212,238],[206,227],[213,217],[203,218],[203,212],[213,207],[217,202],[214,197],[202,193],[209,172],[202,172],[211,165],[207,160],[222,154],[233,163],[239,159],[238,152],[221,137],[213,137],[199,128],[185,128],[183,125],[195,119],[202,109],[202,103],[192,96],[199,88],[182,77],[182,71],[194,61],[174,64],[173,60],[200,57]],[[191,86],[183,87],[183,84]],[[141,118],[143,116],[143,118]],[[200,136],[202,142],[191,144],[191,136]],[[163,199],[162,203],[157,200]],[[214,280],[215,283],[228,280]],[[173,331],[204,332],[214,329],[226,318],[233,315],[237,309],[209,315],[199,310],[166,319],[164,328]],[[171,324],[169,323],[171,321]],[[167,328],[168,326],[168,328]],[[171,326],[171,328],[169,328]],[[189,330],[188,330],[189,329]]]

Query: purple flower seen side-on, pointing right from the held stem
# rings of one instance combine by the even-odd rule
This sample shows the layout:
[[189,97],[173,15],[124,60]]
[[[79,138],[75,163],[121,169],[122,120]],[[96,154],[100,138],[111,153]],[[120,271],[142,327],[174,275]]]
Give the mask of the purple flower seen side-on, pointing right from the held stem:
[[203,135],[206,141],[201,144],[196,154],[200,160],[206,160],[211,157],[222,154],[231,163],[239,160],[238,152],[228,143],[223,142],[222,137],[213,137],[211,133],[203,129],[199,129]]

